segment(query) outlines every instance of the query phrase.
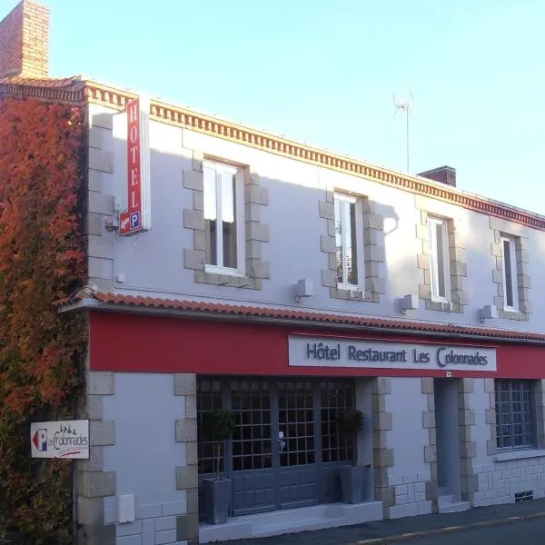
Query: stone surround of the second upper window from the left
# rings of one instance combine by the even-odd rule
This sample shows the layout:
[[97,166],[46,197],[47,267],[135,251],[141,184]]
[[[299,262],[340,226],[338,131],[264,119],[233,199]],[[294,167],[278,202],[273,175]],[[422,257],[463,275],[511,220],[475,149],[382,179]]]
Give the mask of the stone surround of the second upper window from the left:
[[[342,289],[337,282],[337,254],[335,243],[335,193],[356,197],[361,203],[363,228],[363,261],[365,283],[363,292]],[[373,210],[371,201],[364,195],[342,190],[327,190],[325,201],[319,202],[320,217],[327,221],[327,234],[320,238],[321,250],[328,255],[328,269],[322,269],[322,286],[329,287],[330,297],[360,302],[380,302],[385,293],[384,279],[380,278],[380,266],[384,263],[384,237],[382,216]]]

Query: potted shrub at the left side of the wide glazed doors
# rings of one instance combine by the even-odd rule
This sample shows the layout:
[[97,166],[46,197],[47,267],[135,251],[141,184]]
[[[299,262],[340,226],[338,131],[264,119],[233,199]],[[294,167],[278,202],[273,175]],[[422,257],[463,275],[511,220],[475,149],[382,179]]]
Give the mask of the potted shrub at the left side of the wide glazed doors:
[[234,413],[219,409],[211,412],[204,421],[205,437],[209,441],[215,441],[214,467],[215,479],[204,479],[204,503],[206,520],[209,524],[223,524],[229,516],[233,481],[221,478],[222,447],[223,441],[233,435]]

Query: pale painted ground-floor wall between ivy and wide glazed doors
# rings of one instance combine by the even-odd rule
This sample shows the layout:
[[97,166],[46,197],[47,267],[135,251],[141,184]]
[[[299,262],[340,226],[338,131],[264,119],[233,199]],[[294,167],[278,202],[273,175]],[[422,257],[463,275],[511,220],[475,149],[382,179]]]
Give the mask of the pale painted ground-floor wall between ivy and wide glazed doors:
[[[115,444],[104,447],[104,471],[115,471],[116,495],[134,494],[136,519],[186,512],[186,492],[176,490],[175,468],[186,461],[175,442],[175,421],[185,398],[174,396],[172,374],[114,373],[115,394],[104,396],[104,420],[115,421]],[[158,402],[160,400],[160,402]],[[105,500],[115,517],[115,498]]]

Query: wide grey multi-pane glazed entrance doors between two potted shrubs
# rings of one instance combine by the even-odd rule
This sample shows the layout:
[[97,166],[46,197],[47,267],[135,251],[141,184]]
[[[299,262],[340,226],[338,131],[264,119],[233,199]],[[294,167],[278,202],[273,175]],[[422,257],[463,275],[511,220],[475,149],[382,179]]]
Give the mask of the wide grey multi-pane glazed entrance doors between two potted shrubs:
[[200,476],[213,467],[203,421],[206,412],[223,407],[236,417],[221,468],[233,479],[234,516],[341,500],[339,466],[352,461],[354,450],[352,439],[339,434],[337,418],[352,403],[347,380],[200,379]]

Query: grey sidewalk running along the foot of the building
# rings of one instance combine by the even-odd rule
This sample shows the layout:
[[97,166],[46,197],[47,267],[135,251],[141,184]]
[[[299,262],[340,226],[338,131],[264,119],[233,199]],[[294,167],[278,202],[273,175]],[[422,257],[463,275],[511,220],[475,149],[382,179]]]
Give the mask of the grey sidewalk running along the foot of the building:
[[478,507],[460,513],[419,515],[330,530],[303,531],[272,538],[225,541],[225,543],[226,545],[381,545],[401,543],[421,535],[437,535],[539,518],[545,518],[545,499]]

